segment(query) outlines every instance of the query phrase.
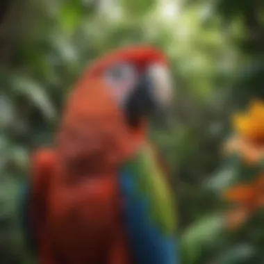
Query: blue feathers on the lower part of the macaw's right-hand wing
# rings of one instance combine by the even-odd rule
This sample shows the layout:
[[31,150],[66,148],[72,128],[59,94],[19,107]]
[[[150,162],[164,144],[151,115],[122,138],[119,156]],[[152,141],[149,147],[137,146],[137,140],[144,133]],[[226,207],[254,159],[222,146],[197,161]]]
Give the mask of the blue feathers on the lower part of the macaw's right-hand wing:
[[149,221],[148,201],[135,195],[133,175],[122,172],[120,187],[124,196],[124,215],[130,246],[136,264],[179,264],[176,238],[165,233]]

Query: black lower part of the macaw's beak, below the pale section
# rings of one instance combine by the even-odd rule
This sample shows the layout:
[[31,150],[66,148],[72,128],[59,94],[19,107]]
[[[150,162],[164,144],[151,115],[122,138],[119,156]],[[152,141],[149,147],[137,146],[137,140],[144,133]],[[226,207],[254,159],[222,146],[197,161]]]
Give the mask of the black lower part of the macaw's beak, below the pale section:
[[142,117],[156,110],[156,102],[151,89],[153,89],[151,79],[145,74],[140,78],[125,104],[126,121],[129,126],[137,127]]

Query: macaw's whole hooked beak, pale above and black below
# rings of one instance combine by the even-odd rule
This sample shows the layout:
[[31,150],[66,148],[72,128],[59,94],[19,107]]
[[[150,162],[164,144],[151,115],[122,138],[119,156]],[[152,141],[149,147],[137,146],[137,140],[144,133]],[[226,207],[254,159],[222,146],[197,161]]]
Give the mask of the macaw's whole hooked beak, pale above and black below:
[[167,67],[151,65],[140,76],[136,87],[125,104],[126,119],[130,126],[138,126],[142,118],[156,110],[165,110],[172,102],[172,81]]

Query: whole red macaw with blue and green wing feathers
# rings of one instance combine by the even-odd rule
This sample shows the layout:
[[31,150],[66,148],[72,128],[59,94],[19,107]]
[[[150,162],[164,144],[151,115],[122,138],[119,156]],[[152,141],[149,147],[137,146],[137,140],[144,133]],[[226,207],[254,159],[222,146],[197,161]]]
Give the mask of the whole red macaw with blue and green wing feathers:
[[19,197],[38,263],[180,263],[174,194],[147,137],[151,115],[172,104],[172,83],[169,59],[147,45],[85,69]]

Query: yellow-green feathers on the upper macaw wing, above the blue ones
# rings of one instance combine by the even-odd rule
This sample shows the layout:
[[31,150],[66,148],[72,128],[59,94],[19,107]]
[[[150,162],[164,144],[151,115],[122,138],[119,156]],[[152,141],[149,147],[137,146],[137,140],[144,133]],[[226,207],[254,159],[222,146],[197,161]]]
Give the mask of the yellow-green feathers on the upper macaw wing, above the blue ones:
[[126,163],[125,169],[133,172],[133,181],[138,190],[136,195],[147,197],[150,219],[164,233],[174,233],[176,207],[173,195],[151,147],[144,145],[134,158]]

